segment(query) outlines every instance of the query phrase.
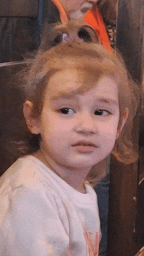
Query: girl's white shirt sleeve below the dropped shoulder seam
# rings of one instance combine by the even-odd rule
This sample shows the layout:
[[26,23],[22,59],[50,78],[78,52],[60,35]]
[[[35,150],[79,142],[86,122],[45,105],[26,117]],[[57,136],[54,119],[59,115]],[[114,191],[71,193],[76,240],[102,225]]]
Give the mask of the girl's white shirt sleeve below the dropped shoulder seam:
[[69,235],[50,192],[20,187],[8,202],[0,229],[1,256],[67,255]]

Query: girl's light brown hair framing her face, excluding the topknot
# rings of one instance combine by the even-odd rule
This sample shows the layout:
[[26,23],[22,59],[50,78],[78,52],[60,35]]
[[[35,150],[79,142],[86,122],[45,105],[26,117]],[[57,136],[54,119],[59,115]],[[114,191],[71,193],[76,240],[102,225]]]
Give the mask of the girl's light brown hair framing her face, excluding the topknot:
[[[103,76],[110,76],[117,82],[120,108],[119,125],[122,122],[126,107],[129,109],[129,117],[120,138],[115,143],[112,154],[120,162],[126,164],[135,162],[137,153],[132,141],[132,120],[139,103],[139,91],[135,82],[130,79],[120,56],[116,52],[107,52],[101,45],[94,43],[88,45],[72,40],[55,46],[44,54],[37,54],[24,83],[26,100],[33,103],[31,115],[36,118],[41,115],[45,89],[50,77],[65,69],[75,69],[82,78],[82,86],[77,89],[78,93],[87,92],[96,86],[96,83]],[[25,143],[24,147],[20,143],[19,149],[22,155],[33,153],[39,149],[39,136],[29,133],[27,138],[29,139],[27,139],[28,142]]]

